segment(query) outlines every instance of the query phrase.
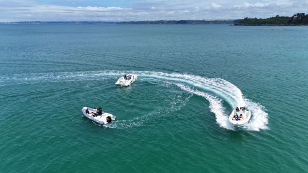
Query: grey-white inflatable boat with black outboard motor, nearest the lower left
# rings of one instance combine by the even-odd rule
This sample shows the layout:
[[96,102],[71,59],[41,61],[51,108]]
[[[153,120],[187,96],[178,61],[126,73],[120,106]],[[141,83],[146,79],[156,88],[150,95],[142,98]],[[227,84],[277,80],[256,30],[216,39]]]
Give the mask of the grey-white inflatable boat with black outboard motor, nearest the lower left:
[[83,116],[101,125],[110,123],[117,119],[117,117],[112,114],[102,112],[99,109],[92,109],[91,107],[83,107],[81,112]]

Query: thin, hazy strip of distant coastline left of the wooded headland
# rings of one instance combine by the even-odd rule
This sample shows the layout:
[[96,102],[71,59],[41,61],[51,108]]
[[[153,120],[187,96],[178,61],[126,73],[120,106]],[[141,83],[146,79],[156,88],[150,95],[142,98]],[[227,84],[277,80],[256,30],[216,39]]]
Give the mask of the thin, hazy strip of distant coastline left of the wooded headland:
[[114,25],[233,25],[238,20],[144,20],[144,21],[13,21],[0,24],[114,24]]

